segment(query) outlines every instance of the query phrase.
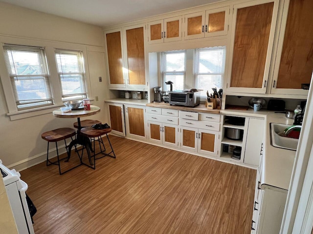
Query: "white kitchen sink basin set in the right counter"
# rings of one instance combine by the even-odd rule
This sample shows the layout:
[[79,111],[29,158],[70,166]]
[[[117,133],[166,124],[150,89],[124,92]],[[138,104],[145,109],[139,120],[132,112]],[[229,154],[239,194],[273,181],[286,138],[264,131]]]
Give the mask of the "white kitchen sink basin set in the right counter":
[[270,123],[271,145],[277,148],[283,148],[287,150],[297,150],[299,139],[279,136],[280,133],[283,133],[286,128],[289,128],[291,126],[292,125],[287,124]]

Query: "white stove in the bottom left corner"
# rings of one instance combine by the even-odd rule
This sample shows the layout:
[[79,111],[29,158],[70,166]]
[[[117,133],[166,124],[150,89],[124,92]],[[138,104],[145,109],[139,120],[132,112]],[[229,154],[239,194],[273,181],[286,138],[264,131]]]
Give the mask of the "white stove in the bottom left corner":
[[20,179],[19,172],[8,169],[1,160],[0,171],[19,234],[34,234],[25,194],[28,185]]

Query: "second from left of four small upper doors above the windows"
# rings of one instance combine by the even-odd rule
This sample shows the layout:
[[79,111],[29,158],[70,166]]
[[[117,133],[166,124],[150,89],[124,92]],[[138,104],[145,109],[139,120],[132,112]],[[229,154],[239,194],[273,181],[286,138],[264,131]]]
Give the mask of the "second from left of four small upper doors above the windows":
[[164,42],[181,40],[181,16],[164,20]]

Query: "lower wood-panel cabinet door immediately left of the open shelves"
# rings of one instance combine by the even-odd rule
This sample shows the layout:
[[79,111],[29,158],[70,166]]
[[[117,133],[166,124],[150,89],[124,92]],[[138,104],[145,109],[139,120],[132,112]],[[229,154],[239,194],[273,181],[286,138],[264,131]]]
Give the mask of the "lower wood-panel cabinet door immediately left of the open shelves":
[[199,129],[198,153],[217,156],[219,132]]

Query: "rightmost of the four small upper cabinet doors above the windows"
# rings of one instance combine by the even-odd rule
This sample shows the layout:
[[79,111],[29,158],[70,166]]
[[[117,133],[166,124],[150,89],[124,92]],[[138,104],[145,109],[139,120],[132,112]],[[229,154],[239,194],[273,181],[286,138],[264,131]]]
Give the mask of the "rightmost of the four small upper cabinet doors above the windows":
[[229,6],[205,12],[205,37],[227,35]]

